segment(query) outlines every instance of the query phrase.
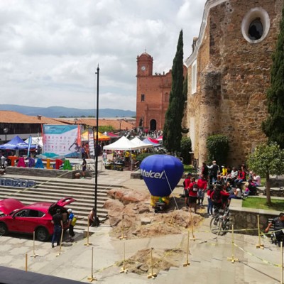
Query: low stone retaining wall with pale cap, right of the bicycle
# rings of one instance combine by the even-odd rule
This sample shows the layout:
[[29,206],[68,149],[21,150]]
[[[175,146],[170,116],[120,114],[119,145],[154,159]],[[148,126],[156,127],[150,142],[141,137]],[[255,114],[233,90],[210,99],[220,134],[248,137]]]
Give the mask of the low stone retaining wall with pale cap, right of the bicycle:
[[[241,202],[242,200],[231,200],[229,207],[230,220],[231,224],[234,224],[234,229],[257,229],[257,216],[259,215],[259,226],[261,231],[264,231],[268,226],[268,219],[278,217],[280,214],[280,212],[273,210],[243,208],[241,207]],[[258,230],[241,231],[241,234],[258,235]]]

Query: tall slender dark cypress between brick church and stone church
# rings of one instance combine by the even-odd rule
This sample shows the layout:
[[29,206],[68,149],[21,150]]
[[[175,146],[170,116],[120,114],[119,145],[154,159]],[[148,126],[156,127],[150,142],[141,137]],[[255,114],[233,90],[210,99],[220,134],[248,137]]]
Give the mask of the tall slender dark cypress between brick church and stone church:
[[163,143],[170,153],[180,151],[182,138],[182,117],[185,104],[183,89],[183,39],[182,31],[178,38],[177,51],[172,67],[172,89],[170,90],[170,103],[165,113],[163,128]]

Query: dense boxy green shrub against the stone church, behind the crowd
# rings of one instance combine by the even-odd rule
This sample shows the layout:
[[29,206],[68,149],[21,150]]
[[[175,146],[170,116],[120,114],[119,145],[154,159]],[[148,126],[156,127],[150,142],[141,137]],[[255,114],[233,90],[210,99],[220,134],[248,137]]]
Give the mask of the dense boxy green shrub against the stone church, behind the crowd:
[[207,137],[206,147],[208,150],[208,159],[211,162],[216,160],[219,165],[226,163],[229,153],[229,139],[222,134],[214,134]]

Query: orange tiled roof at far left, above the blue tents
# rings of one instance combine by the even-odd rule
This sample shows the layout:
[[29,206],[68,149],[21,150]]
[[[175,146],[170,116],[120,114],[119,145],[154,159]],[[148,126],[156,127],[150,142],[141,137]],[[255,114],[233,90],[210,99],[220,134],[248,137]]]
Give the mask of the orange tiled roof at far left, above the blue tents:
[[66,124],[45,116],[27,116],[16,111],[0,111],[1,124]]

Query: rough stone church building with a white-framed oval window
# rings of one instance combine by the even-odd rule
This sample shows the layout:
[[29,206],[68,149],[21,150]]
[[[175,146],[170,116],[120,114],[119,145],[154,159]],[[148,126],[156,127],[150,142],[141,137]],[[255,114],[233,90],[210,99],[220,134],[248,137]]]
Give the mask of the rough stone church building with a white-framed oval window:
[[266,141],[261,123],[282,7],[283,0],[207,0],[199,38],[185,61],[183,124],[199,165],[207,161],[209,135],[229,138],[228,162],[236,166]]

